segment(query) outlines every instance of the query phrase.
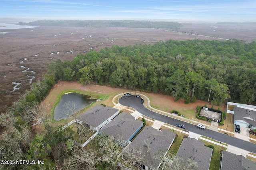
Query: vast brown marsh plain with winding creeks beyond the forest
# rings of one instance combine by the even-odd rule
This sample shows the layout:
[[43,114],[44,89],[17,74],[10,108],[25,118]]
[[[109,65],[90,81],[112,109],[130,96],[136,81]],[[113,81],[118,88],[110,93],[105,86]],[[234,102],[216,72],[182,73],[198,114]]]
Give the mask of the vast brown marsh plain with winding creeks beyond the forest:
[[[36,27],[28,29],[3,29],[0,34],[0,112],[29,89],[46,73],[48,64],[57,59],[72,60],[86,51],[100,51],[113,45],[126,46],[154,44],[159,41],[202,39],[244,39],[256,41],[256,25],[188,24],[177,31],[205,36],[178,33],[162,29],[136,28],[86,28],[86,27]],[[220,29],[221,28],[221,29]],[[209,31],[216,29],[216,31]],[[218,34],[213,34],[218,32]],[[212,37],[219,36],[223,39]],[[14,83],[14,84],[13,84]],[[16,84],[15,84],[16,83]],[[17,84],[18,83],[18,84]],[[20,84],[19,84],[20,83]],[[14,91],[14,86],[16,86]],[[153,104],[154,105],[154,104]],[[156,106],[157,108],[157,106]],[[167,110],[168,108],[166,108]],[[193,108],[194,109],[194,108]]]

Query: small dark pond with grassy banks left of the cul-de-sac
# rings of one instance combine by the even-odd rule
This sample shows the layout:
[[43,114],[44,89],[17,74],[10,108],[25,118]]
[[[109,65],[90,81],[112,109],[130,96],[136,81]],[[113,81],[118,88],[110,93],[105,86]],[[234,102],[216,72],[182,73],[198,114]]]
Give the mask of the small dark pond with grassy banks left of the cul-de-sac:
[[78,93],[66,93],[60,98],[60,102],[54,109],[54,119],[60,120],[69,117],[84,107],[96,102],[96,99],[90,99],[90,96],[86,96]]

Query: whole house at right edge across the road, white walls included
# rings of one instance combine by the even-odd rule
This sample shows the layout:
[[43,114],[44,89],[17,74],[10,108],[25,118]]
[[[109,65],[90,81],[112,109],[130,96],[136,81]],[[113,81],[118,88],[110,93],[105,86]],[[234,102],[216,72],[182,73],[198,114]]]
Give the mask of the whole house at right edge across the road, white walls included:
[[234,106],[234,124],[240,127],[256,129],[256,109],[246,106]]

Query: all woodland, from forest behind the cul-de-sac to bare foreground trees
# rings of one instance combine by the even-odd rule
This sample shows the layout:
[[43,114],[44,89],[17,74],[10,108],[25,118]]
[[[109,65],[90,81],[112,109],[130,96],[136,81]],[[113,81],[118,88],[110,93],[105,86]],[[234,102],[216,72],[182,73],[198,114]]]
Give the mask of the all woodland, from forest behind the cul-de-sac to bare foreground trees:
[[[32,83],[30,91],[20,96],[6,113],[0,114],[0,159],[40,160],[44,164],[0,164],[0,169],[115,169],[118,166],[122,149],[111,137],[98,136],[91,141],[90,148],[80,149],[70,141],[74,130],[60,130],[62,126],[48,124],[52,121],[50,113],[40,102],[56,80],[82,84],[95,81],[172,95],[176,100],[184,98],[187,104],[196,99],[216,105],[226,100],[255,104],[255,64],[256,43],[236,39],[169,40],[154,45],[113,46],[77,55],[70,61],[58,59],[50,63],[48,74],[41,81]],[[39,119],[42,123],[38,127],[42,131],[35,131],[33,125]],[[88,128],[81,128],[81,134],[86,130],[90,132]],[[130,159],[122,159],[122,163],[138,168],[134,160],[144,159],[145,154],[140,150],[136,152],[140,152],[139,157],[132,154]],[[172,164],[168,166],[168,162],[163,161],[162,168],[180,166],[182,160],[167,156]],[[192,162],[188,165],[196,166]]]

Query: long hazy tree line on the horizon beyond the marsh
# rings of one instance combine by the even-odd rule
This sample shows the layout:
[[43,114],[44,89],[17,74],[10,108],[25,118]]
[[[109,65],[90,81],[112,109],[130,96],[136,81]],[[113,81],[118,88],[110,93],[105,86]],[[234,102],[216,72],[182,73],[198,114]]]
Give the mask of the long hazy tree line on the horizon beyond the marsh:
[[136,21],[136,20],[38,20],[20,22],[30,26],[61,26],[61,27],[130,27],[130,28],[164,28],[178,29],[182,24],[167,21]]

